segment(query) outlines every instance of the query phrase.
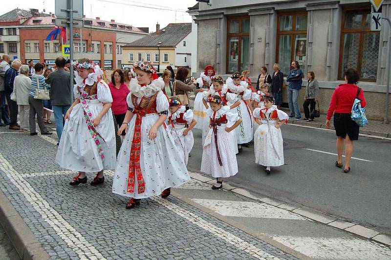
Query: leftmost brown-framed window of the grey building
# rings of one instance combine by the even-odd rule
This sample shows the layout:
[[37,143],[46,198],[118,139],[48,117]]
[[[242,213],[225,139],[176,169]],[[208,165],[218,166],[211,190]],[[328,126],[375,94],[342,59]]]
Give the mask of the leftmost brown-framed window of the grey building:
[[250,66],[250,18],[232,17],[227,21],[227,73]]

